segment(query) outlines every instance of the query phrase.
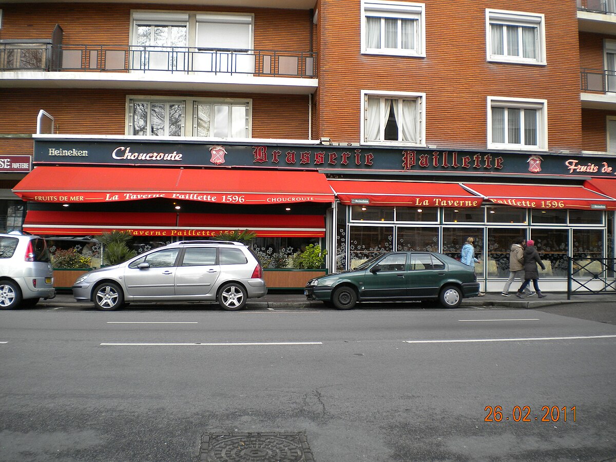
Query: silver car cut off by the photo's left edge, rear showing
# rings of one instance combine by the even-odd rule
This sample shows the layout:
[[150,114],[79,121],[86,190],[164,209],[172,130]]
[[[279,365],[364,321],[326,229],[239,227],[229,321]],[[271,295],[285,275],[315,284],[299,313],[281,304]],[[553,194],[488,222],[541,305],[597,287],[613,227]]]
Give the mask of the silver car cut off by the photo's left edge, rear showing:
[[55,297],[46,241],[19,232],[0,234],[0,310],[32,307]]

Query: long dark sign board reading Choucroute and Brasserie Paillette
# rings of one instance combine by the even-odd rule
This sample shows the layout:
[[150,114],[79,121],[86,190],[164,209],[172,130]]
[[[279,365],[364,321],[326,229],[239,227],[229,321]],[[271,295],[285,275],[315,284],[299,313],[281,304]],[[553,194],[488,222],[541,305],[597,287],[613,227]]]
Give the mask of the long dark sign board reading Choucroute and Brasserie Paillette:
[[616,160],[562,153],[434,150],[379,146],[241,145],[134,139],[34,140],[36,164],[264,167],[321,171],[450,172],[613,177]]

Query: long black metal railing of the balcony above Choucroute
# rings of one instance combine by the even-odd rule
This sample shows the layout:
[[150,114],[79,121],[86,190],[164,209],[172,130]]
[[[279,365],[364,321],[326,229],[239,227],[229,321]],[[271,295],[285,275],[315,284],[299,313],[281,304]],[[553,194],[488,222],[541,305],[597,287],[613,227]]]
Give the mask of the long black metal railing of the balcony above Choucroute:
[[314,52],[195,47],[0,44],[0,71],[98,71],[316,75]]

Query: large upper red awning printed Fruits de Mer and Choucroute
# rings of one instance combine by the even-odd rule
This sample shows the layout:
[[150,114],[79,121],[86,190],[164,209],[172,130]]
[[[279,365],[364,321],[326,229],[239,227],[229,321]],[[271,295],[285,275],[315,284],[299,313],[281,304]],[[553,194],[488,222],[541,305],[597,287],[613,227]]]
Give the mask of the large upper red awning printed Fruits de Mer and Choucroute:
[[333,202],[314,171],[39,166],[13,189],[23,200],[59,203],[168,198],[228,204]]

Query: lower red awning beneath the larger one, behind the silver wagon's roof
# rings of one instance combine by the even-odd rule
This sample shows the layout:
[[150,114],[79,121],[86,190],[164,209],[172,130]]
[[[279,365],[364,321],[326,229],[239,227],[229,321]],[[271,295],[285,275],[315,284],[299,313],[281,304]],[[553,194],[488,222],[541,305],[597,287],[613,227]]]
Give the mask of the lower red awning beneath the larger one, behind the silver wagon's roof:
[[142,237],[212,237],[249,229],[259,237],[324,237],[322,215],[70,212],[30,210],[23,230],[39,235],[99,235],[128,230]]

